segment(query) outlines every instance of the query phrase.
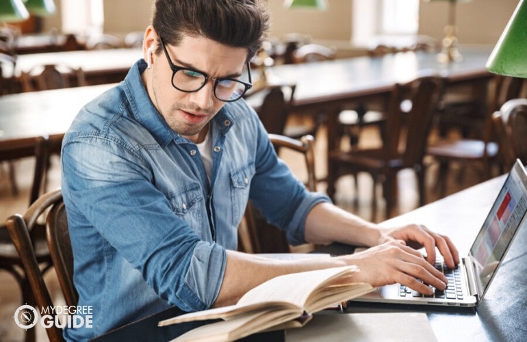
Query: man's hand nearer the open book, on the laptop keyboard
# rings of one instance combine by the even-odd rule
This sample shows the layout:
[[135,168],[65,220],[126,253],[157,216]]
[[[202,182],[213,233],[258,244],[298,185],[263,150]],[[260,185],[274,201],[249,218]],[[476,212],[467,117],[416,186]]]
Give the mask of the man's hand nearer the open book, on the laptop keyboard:
[[373,286],[400,283],[430,295],[433,290],[428,284],[440,290],[446,289],[448,284],[444,274],[428,263],[420,252],[406,246],[403,241],[392,240],[364,252],[337,258],[359,266],[361,272],[357,273],[354,279]]

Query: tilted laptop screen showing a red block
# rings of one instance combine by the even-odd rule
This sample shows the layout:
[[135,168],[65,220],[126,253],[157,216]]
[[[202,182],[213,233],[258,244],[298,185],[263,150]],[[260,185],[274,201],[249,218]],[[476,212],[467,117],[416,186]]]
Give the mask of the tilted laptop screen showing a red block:
[[472,260],[483,292],[522,224],[527,211],[527,174],[518,160],[498,194],[472,248]]

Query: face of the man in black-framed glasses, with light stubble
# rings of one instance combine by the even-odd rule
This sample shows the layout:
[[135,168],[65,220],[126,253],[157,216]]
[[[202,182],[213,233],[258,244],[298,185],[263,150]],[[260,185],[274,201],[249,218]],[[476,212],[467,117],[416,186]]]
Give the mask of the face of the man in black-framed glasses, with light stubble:
[[[149,35],[155,38],[145,39],[144,44],[150,41],[155,51],[157,45],[153,41],[159,41],[157,34],[151,29],[147,30],[146,38]],[[199,70],[215,79],[242,75],[247,57],[246,49],[227,47],[201,36],[184,36],[178,46],[167,44],[165,47],[172,64]],[[146,57],[145,54],[145,60]],[[201,142],[200,132],[224,105],[214,96],[214,80],[207,80],[197,92],[181,92],[172,87],[172,69],[164,53],[153,54],[152,59],[151,68],[142,77],[153,104],[171,129],[194,142]]]

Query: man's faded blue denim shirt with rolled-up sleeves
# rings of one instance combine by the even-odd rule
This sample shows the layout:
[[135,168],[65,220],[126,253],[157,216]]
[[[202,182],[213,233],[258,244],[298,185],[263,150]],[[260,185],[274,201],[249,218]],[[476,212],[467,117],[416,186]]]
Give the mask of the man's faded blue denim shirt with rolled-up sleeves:
[[211,120],[209,185],[196,144],[172,131],[151,103],[140,77],[145,68],[140,60],[83,107],[64,137],[74,281],[79,306],[93,312],[93,328],[66,330],[67,339],[90,339],[173,305],[209,308],[248,198],[292,244],[304,241],[311,208],[329,200],[292,176],[242,100]]

